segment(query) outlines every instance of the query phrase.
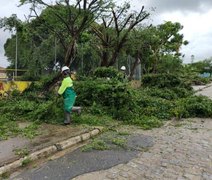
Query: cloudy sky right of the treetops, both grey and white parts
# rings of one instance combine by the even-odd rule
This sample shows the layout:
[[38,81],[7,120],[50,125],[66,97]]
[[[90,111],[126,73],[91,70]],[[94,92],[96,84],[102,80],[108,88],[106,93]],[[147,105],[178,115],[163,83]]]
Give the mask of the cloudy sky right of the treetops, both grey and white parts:
[[[133,0],[134,8],[142,5],[151,11],[154,25],[165,21],[179,22],[183,25],[181,31],[184,39],[189,41],[181,52],[185,54],[184,62],[191,62],[191,55],[195,61],[212,56],[212,0]],[[138,6],[140,4],[140,6]]]

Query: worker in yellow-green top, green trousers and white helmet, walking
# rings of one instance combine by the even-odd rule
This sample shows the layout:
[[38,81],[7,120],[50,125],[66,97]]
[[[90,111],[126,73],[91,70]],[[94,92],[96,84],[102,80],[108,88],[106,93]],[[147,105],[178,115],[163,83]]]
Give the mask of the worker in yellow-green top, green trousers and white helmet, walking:
[[64,125],[71,123],[71,110],[75,103],[76,93],[73,89],[73,81],[70,77],[70,69],[67,66],[62,68],[63,81],[58,90],[58,94],[63,96],[65,120]]

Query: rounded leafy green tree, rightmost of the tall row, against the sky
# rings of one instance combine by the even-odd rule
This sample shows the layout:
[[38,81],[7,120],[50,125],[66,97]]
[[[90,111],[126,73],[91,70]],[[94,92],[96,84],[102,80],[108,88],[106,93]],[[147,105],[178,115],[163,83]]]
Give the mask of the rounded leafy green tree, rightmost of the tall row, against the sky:
[[[172,63],[180,68],[180,48],[188,44],[179,33],[182,28],[180,23],[165,22],[158,26],[134,30],[127,46],[128,54],[135,59],[130,78],[139,64],[144,74],[171,71],[172,66],[169,65]],[[170,69],[167,69],[168,67]]]

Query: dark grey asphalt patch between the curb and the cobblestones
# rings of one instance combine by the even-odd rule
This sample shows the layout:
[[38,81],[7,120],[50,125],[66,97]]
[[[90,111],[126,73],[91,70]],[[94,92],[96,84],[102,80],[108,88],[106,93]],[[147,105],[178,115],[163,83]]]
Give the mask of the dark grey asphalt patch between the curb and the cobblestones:
[[[104,138],[104,134],[102,135]],[[82,152],[77,149],[72,153],[53,161],[49,161],[39,167],[29,169],[15,180],[70,180],[78,175],[108,169],[118,164],[127,163],[135,158],[141,149],[153,146],[153,139],[145,135],[125,136],[127,143],[125,148],[111,146],[110,150]]]

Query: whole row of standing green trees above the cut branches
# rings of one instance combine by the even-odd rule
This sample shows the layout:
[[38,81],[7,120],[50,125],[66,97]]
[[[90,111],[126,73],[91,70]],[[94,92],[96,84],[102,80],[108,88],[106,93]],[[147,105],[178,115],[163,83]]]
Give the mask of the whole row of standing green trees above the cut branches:
[[[31,4],[30,18],[2,18],[0,28],[16,30],[18,68],[28,69],[30,77],[39,77],[62,65],[71,65],[84,74],[99,66],[126,65],[130,77],[138,65],[143,74],[181,68],[180,49],[188,44],[180,33],[183,26],[170,21],[147,26],[150,13],[144,7],[135,12],[129,3],[117,6],[112,0],[20,2]],[[15,64],[16,35],[4,46],[11,67]]]

